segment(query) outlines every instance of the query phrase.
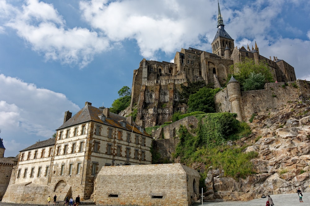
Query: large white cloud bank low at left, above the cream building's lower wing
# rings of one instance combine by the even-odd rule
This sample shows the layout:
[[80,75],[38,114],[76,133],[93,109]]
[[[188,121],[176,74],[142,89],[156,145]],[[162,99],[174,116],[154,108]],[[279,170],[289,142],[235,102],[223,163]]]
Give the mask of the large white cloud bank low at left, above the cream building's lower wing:
[[[11,148],[15,153],[38,139],[51,137],[63,123],[64,111],[79,110],[63,94],[3,74],[0,74],[0,88],[1,138],[7,142],[5,148]],[[14,150],[12,147],[16,145],[8,143],[10,141],[18,142],[20,147]]]

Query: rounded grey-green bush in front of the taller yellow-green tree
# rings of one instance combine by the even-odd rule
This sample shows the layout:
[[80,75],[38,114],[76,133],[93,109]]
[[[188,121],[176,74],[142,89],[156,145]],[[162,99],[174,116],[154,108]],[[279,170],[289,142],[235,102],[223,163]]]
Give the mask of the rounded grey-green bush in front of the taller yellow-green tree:
[[264,88],[265,83],[265,76],[262,73],[255,74],[251,72],[249,78],[244,80],[242,86],[245,91],[259,90]]

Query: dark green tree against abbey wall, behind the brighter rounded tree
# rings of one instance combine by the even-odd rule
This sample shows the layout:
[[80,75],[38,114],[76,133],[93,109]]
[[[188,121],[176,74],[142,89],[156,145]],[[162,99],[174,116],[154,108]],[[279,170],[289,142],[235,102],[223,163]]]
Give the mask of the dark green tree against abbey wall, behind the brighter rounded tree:
[[187,104],[190,95],[195,94],[202,87],[206,86],[206,81],[187,82],[187,86],[181,84],[180,103]]

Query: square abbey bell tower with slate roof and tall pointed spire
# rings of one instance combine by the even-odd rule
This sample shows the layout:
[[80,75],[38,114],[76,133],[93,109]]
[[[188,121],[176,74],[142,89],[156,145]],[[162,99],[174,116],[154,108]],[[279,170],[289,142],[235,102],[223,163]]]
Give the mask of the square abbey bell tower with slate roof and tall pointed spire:
[[224,22],[221,15],[221,11],[219,9],[219,0],[217,1],[218,4],[218,16],[217,16],[217,32],[211,43],[212,46],[212,53],[223,57],[225,55],[225,49],[228,47],[230,50],[234,48],[234,40],[229,36],[229,34],[224,29]]

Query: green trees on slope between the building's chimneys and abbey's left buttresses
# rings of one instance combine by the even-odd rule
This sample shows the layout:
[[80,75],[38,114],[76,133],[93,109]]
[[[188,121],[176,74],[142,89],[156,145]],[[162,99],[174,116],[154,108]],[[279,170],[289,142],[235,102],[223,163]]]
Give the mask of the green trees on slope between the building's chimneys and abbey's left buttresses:
[[131,89],[128,86],[123,86],[118,91],[119,98],[115,99],[110,107],[112,113],[118,114],[122,110],[126,109],[131,101]]

